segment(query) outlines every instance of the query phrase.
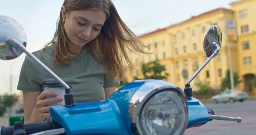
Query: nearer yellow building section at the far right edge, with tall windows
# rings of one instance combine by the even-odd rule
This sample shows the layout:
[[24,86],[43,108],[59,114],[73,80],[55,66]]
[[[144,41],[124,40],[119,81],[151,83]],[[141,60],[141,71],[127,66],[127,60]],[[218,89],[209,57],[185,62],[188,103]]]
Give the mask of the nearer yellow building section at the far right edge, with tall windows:
[[253,52],[256,50],[256,0],[241,0],[230,6],[234,11],[238,35],[236,63],[243,80],[239,89],[256,94],[255,88],[250,86],[250,80],[256,74],[256,53]]

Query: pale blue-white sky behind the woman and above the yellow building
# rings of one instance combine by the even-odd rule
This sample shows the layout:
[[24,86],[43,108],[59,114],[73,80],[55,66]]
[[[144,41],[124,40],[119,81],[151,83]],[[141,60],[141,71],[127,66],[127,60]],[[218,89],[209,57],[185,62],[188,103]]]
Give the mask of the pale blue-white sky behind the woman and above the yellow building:
[[[29,52],[52,39],[64,0],[0,0],[0,15],[17,20],[26,32]],[[204,12],[230,9],[238,0],[112,0],[122,20],[137,35],[161,29]],[[0,60],[0,95],[16,90],[23,53],[14,60]],[[10,81],[12,75],[12,81]],[[11,82],[11,83],[10,83]],[[12,87],[10,87],[12,86]],[[10,90],[12,88],[12,90]]]

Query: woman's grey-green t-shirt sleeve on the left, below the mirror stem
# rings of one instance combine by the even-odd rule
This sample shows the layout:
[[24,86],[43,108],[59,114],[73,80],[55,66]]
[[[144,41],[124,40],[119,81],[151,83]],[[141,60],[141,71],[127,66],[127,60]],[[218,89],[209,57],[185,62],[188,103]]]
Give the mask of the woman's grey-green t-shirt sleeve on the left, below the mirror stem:
[[31,92],[41,91],[41,84],[36,81],[35,70],[28,56],[25,57],[21,66],[17,89]]

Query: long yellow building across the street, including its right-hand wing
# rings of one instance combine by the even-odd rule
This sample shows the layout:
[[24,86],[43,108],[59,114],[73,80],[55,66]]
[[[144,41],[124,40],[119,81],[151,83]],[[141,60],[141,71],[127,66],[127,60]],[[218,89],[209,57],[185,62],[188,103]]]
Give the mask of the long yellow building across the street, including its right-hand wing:
[[[253,54],[251,49],[246,53],[241,49],[242,43],[249,40],[249,37],[255,37],[255,32],[253,35],[253,28],[255,30],[256,23],[253,23],[253,17],[248,17],[251,18],[251,20],[245,20],[243,23],[236,23],[237,28],[247,24],[251,26],[249,27],[249,33],[247,32],[246,37],[244,34],[240,34],[241,30],[237,30],[238,41],[233,40],[234,37],[236,37],[236,31],[234,31],[234,33],[232,30],[226,28],[227,26],[230,26],[230,22],[233,23],[240,21],[237,18],[239,17],[237,15],[239,11],[241,9],[248,9],[250,6],[253,7],[252,5],[256,6],[255,1],[256,0],[243,0],[242,2],[232,3],[231,6],[233,10],[224,8],[215,9],[198,16],[193,16],[182,23],[178,23],[164,29],[157,29],[154,32],[141,35],[140,38],[143,43],[151,45],[145,51],[154,52],[154,54],[145,56],[133,53],[129,54],[133,62],[136,64],[136,69],[132,70],[127,68],[126,78],[128,82],[132,81],[134,76],[142,77],[140,69],[142,63],[159,59],[160,63],[166,66],[166,70],[170,74],[167,81],[174,83],[183,89],[187,79],[190,78],[198,67],[200,67],[207,59],[204,54],[203,41],[207,29],[213,24],[217,24],[222,31],[221,51],[218,53],[218,56],[214,57],[191,82],[193,90],[197,90],[194,85],[197,80],[209,81],[212,89],[221,89],[221,79],[225,77],[225,73],[227,69],[229,69],[229,57],[227,52],[228,45],[231,49],[233,72],[238,72],[240,79],[243,79],[243,75],[254,74],[256,72],[256,68],[254,67],[253,69],[252,66],[246,66],[248,71],[240,72],[241,69],[245,68],[242,66],[244,63],[243,57],[249,57]],[[252,10],[253,8],[250,10],[248,9],[247,11],[247,13],[251,12],[251,16],[253,16]],[[234,36],[232,36],[232,34]],[[250,40],[250,44],[252,43],[255,43],[255,40]],[[183,78],[183,69],[188,71],[188,78]],[[251,71],[249,72],[250,69]],[[244,84],[241,84],[237,89],[243,89],[243,86]]]

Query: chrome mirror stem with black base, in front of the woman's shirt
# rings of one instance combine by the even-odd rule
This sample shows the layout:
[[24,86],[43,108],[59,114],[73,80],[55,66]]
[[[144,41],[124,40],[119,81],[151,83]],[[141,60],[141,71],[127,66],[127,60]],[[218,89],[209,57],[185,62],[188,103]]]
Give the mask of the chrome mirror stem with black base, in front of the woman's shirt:
[[51,69],[49,69],[46,65],[44,65],[44,63],[42,63],[40,60],[38,60],[38,58],[35,57],[35,55],[28,52],[26,50],[25,46],[23,46],[23,43],[20,43],[18,40],[15,40],[15,39],[9,39],[9,40],[6,40],[6,44],[9,44],[10,46],[12,46],[14,48],[20,49],[22,52],[25,52],[26,55],[28,55],[30,58],[35,60],[35,62],[37,62],[47,73],[49,73],[49,75],[51,75],[55,80],[57,80],[65,88],[65,95],[64,95],[65,106],[75,105],[74,95],[70,91],[70,86],[68,86],[68,84],[65,83],[61,78],[59,78],[58,75],[56,75],[54,72],[52,72]]

